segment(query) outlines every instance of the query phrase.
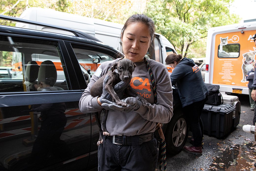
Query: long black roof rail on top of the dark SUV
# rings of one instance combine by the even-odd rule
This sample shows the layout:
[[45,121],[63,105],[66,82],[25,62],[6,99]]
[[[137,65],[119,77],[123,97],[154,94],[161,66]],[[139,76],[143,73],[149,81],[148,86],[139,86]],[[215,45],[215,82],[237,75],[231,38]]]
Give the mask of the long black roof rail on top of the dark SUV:
[[87,33],[84,33],[82,31],[75,30],[75,29],[72,29],[72,28],[56,26],[56,25],[51,25],[51,24],[46,24],[46,23],[40,23],[40,22],[26,20],[26,19],[17,18],[17,17],[10,17],[10,16],[7,16],[7,15],[0,15],[0,19],[19,22],[19,23],[32,24],[32,25],[37,25],[37,26],[45,26],[45,27],[55,28],[55,29],[64,30],[64,31],[69,31],[69,32],[73,33],[76,37],[82,37],[82,38],[87,38],[87,39],[102,42],[99,39],[97,39],[96,37],[93,37],[93,36],[91,36]]

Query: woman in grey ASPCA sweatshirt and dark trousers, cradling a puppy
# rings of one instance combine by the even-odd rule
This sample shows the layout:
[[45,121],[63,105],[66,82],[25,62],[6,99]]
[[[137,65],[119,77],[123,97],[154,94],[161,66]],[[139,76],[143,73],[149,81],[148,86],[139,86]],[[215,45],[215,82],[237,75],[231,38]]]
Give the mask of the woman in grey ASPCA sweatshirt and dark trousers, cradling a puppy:
[[110,136],[103,136],[103,143],[99,145],[98,170],[153,171],[156,168],[158,144],[154,131],[158,122],[170,121],[173,98],[167,68],[145,58],[148,50],[150,55],[154,53],[154,32],[152,19],[137,14],[127,19],[121,33],[122,57],[136,64],[130,86],[150,103],[148,108],[135,97],[122,97],[124,102],[132,104],[123,107],[90,95],[93,83],[108,72],[112,63],[122,58],[103,62],[80,99],[82,112],[98,112],[103,107],[109,110],[106,128]]

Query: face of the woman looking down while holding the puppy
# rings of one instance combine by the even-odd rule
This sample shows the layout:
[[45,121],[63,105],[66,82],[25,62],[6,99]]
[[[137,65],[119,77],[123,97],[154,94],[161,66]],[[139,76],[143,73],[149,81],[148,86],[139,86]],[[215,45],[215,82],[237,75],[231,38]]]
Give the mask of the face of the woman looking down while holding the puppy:
[[140,62],[147,53],[151,37],[145,24],[130,23],[124,30],[121,40],[124,58]]

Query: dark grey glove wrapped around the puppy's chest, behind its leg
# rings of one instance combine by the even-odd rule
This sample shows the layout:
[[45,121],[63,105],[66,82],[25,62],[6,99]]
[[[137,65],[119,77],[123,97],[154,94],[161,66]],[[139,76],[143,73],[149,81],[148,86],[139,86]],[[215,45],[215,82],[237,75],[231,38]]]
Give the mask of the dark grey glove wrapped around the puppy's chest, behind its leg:
[[[106,75],[104,81],[103,81],[103,91],[102,95],[100,97],[100,102],[102,103],[102,99],[106,99],[108,101],[113,101],[112,96],[105,90],[105,85],[108,82],[109,76]],[[119,99],[121,99],[124,95],[124,90],[129,86],[130,82],[119,82],[114,86],[114,91],[118,95]]]

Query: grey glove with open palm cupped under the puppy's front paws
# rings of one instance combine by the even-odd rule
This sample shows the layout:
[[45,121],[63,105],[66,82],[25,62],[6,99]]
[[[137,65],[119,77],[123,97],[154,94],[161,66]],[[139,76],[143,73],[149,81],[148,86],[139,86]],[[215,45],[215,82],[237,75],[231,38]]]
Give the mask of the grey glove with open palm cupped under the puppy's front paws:
[[108,100],[102,99],[101,106],[110,111],[119,111],[119,112],[131,112],[133,110],[138,110],[141,106],[141,101],[138,97],[128,97],[126,99],[122,99],[121,101],[125,102],[127,106],[119,106],[114,102],[110,102]]

